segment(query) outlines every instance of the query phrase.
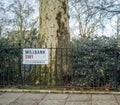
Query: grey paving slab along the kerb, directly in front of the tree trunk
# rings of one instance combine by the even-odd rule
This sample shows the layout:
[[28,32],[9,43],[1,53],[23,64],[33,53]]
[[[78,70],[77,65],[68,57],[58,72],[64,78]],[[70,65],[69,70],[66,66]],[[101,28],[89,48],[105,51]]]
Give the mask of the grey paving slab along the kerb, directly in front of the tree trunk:
[[68,94],[48,94],[45,100],[66,100]]

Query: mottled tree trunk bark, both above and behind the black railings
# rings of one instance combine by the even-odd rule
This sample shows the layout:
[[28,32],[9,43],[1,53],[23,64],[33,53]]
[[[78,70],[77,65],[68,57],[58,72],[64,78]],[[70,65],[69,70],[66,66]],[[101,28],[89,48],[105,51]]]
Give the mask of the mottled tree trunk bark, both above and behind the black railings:
[[[39,43],[47,48],[64,48],[70,41],[68,0],[40,0],[40,25]],[[65,57],[61,57],[61,49],[52,50],[50,66],[56,72],[56,78],[60,77]],[[54,62],[54,63],[53,63]],[[62,62],[62,63],[61,63]],[[63,65],[61,67],[61,65]],[[58,81],[56,81],[58,82]]]

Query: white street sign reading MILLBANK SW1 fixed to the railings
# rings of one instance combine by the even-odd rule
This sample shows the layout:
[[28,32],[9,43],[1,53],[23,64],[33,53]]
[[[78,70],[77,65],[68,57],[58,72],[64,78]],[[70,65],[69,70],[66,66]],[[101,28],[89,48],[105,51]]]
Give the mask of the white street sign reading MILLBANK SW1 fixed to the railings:
[[48,64],[48,49],[23,49],[23,64]]

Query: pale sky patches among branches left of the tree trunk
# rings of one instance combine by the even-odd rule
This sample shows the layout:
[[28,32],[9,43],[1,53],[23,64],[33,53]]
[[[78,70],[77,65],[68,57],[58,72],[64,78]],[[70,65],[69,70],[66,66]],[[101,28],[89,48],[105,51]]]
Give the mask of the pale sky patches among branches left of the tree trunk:
[[[24,0],[20,0],[20,1],[24,1]],[[0,7],[4,6],[4,8],[7,9],[7,7],[12,3],[13,3],[13,0],[1,0],[0,1]],[[37,0],[30,0],[30,2],[28,2],[28,3],[30,3],[30,5],[33,6],[33,8],[35,9],[34,14],[32,14],[29,17],[31,20],[34,20],[39,15],[39,11],[38,11],[39,8],[37,8],[37,7],[39,7],[38,1]],[[14,17],[14,14],[10,13],[8,11],[5,12],[5,13],[2,11],[1,14],[0,14],[0,19],[1,18],[3,18],[3,19],[10,19],[11,18],[12,19],[13,17]],[[3,29],[2,29],[2,36],[3,37],[6,35],[7,31],[15,30],[15,27],[11,26],[10,24],[6,24],[6,23],[7,22],[3,23]],[[6,24],[6,25],[4,25],[4,24]]]

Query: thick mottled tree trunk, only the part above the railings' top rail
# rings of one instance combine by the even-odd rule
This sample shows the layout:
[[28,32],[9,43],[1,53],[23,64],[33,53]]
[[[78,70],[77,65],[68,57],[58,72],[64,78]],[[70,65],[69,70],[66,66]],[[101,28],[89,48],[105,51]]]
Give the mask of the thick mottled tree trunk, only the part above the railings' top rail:
[[39,41],[64,47],[70,40],[68,0],[40,0]]

